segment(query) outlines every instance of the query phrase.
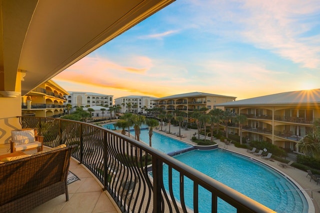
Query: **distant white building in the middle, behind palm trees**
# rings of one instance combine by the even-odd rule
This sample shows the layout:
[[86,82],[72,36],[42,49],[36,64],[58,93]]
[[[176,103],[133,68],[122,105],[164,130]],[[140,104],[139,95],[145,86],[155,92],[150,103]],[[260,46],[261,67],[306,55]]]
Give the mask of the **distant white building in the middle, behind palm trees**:
[[114,99],[114,105],[121,107],[121,112],[145,113],[146,109],[151,109],[154,97],[129,95]]

